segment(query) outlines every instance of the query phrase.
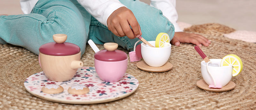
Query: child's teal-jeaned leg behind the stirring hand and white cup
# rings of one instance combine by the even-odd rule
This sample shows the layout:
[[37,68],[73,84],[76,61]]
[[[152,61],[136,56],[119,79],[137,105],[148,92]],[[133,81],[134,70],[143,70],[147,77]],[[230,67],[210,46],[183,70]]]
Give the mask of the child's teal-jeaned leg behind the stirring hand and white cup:
[[[170,36],[174,35],[174,27],[168,21],[160,10],[148,6],[148,4],[140,2],[139,0],[119,0],[128,9],[132,10],[140,24],[142,36],[147,41],[155,41],[156,36],[160,32],[165,32]],[[133,51],[133,46],[138,38],[129,39],[127,37],[117,37],[108,28],[100,24],[95,18],[92,18],[89,38],[95,43],[103,44],[104,42],[116,42],[118,45]]]

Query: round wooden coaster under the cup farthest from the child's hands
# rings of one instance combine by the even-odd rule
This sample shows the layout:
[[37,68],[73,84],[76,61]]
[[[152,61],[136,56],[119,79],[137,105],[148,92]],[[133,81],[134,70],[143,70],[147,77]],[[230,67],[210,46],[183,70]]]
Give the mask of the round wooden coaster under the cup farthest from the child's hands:
[[215,88],[209,88],[209,85],[204,81],[204,79],[201,79],[196,82],[196,86],[198,86],[201,89],[204,89],[206,91],[211,91],[211,92],[225,92],[229,91],[231,89],[234,89],[236,86],[236,83],[229,81],[228,84],[220,89],[215,89]]

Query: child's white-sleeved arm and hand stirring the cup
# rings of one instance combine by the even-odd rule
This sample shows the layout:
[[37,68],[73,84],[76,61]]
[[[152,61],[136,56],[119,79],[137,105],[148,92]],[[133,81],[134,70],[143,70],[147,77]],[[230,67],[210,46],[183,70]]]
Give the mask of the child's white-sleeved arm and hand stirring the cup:
[[[93,17],[116,36],[140,37],[140,25],[132,11],[118,0],[77,0]],[[130,28],[130,25],[132,29]]]

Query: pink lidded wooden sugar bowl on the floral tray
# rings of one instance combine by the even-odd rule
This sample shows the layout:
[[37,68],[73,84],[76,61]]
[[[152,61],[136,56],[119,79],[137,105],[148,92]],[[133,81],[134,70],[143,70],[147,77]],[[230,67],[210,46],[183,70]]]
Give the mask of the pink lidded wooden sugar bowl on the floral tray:
[[116,43],[105,43],[106,50],[94,54],[95,70],[103,81],[117,82],[123,78],[127,70],[127,54],[117,50],[117,47]]

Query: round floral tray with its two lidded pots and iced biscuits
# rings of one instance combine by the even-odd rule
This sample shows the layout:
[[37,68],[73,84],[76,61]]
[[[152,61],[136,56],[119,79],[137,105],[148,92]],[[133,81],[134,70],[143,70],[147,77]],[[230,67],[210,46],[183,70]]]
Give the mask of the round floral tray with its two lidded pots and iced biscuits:
[[116,50],[116,43],[105,43],[106,50],[97,48],[95,67],[83,67],[80,48],[65,42],[66,39],[65,34],[54,34],[55,42],[39,48],[43,72],[25,80],[24,86],[29,93],[54,102],[94,104],[118,100],[137,90],[138,80],[125,73],[127,54]]

